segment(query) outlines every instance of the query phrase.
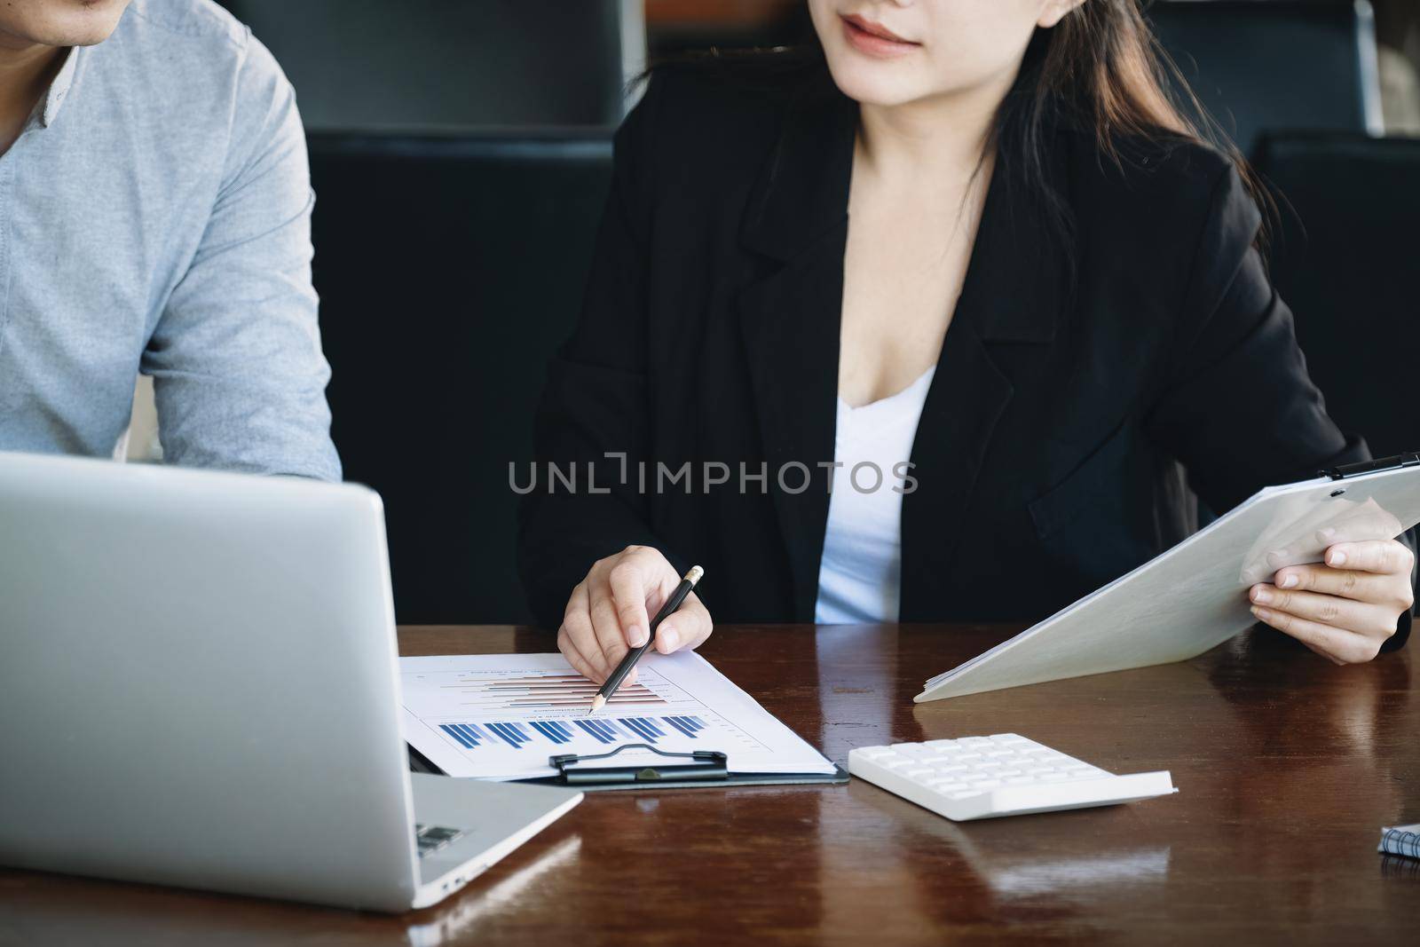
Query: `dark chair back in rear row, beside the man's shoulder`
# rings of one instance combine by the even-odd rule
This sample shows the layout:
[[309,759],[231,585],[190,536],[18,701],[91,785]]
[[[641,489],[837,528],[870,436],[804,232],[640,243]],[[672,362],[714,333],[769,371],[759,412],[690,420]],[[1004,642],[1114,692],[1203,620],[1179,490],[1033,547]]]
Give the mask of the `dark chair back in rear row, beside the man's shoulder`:
[[308,131],[615,125],[645,57],[630,0],[220,3],[275,54]]

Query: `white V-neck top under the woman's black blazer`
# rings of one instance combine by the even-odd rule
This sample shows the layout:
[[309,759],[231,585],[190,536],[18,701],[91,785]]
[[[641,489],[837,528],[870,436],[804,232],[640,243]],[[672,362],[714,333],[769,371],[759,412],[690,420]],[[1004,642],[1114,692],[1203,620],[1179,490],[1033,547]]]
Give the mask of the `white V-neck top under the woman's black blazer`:
[[862,407],[838,399],[834,493],[818,566],[819,625],[896,622],[902,598],[902,491],[932,366],[903,390]]

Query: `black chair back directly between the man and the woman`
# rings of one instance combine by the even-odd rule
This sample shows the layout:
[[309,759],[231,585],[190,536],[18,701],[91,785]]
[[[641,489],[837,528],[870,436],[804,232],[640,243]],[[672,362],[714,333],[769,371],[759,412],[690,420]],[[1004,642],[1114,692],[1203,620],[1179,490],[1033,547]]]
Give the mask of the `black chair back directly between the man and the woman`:
[[311,136],[335,444],[385,498],[400,622],[530,619],[514,568],[544,366],[577,321],[605,135]]

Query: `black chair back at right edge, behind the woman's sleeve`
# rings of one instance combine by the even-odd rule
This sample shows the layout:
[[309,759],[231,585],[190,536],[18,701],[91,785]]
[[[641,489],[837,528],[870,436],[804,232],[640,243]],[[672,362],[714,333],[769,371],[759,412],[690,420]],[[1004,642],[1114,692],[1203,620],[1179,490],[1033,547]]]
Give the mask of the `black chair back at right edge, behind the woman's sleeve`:
[[1376,456],[1420,447],[1420,139],[1287,133],[1257,159],[1285,197],[1272,278],[1326,407]]

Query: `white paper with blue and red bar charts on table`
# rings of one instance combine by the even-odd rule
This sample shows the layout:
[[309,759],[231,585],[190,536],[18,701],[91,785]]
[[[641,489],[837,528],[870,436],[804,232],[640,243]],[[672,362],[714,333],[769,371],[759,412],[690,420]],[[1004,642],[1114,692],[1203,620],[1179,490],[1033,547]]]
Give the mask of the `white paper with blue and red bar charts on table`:
[[[636,683],[595,716],[596,684],[561,655],[400,657],[405,740],[452,777],[551,777],[548,757],[626,744],[717,750],[730,772],[834,772],[834,764],[693,652],[648,652]],[[643,750],[606,765],[690,765]]]

